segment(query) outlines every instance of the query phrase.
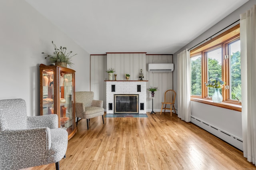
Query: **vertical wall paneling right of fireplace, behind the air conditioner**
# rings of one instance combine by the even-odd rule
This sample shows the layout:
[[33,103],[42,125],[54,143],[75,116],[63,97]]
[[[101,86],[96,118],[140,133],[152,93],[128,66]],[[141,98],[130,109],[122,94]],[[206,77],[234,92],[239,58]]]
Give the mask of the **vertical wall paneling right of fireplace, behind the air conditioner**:
[[[146,55],[146,68],[148,63],[172,63],[172,55]],[[164,92],[172,89],[172,72],[170,73],[152,73],[147,71],[148,84],[150,86],[158,87],[159,90],[155,92],[154,111],[161,110],[161,102],[164,100]],[[151,92],[148,91],[148,97]],[[152,99],[147,100],[147,111],[152,111]]]

